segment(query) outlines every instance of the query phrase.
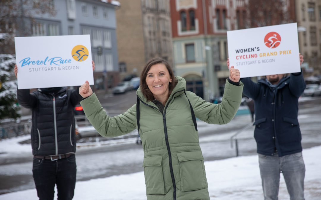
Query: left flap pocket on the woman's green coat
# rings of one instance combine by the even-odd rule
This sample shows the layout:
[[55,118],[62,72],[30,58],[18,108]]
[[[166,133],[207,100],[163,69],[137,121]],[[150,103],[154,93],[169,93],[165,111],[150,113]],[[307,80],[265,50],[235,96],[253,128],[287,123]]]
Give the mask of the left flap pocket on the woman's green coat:
[[165,186],[162,169],[162,156],[145,156],[143,161],[146,194],[164,195]]

